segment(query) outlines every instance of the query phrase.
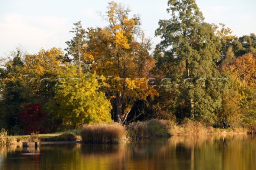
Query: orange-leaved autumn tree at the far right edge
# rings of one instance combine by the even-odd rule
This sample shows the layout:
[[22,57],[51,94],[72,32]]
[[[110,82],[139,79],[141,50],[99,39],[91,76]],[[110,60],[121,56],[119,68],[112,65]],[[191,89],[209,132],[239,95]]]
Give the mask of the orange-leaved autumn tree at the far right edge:
[[[226,116],[231,114],[233,116],[229,119],[243,120],[249,126],[255,125],[256,118],[255,71],[256,59],[252,53],[240,56],[222,67],[222,72],[229,74],[235,81],[231,94],[224,96],[229,99],[226,100],[226,106],[223,106],[223,114],[226,114]],[[233,96],[233,99],[230,98],[231,96]]]

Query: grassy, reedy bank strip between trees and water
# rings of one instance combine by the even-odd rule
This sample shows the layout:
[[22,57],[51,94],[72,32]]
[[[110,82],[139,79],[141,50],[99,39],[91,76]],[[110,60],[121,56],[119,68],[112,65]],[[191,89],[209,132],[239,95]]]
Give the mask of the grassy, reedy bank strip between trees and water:
[[141,139],[159,139],[173,135],[206,135],[206,134],[238,134],[250,132],[241,126],[229,128],[213,128],[204,126],[200,122],[187,119],[178,125],[167,120],[151,119],[145,122],[134,122],[128,126],[118,123],[85,125],[82,130],[60,132],[54,134],[31,134],[8,138],[7,132],[1,133],[1,143],[42,141],[82,141],[83,143],[121,143],[125,141],[137,141]]

